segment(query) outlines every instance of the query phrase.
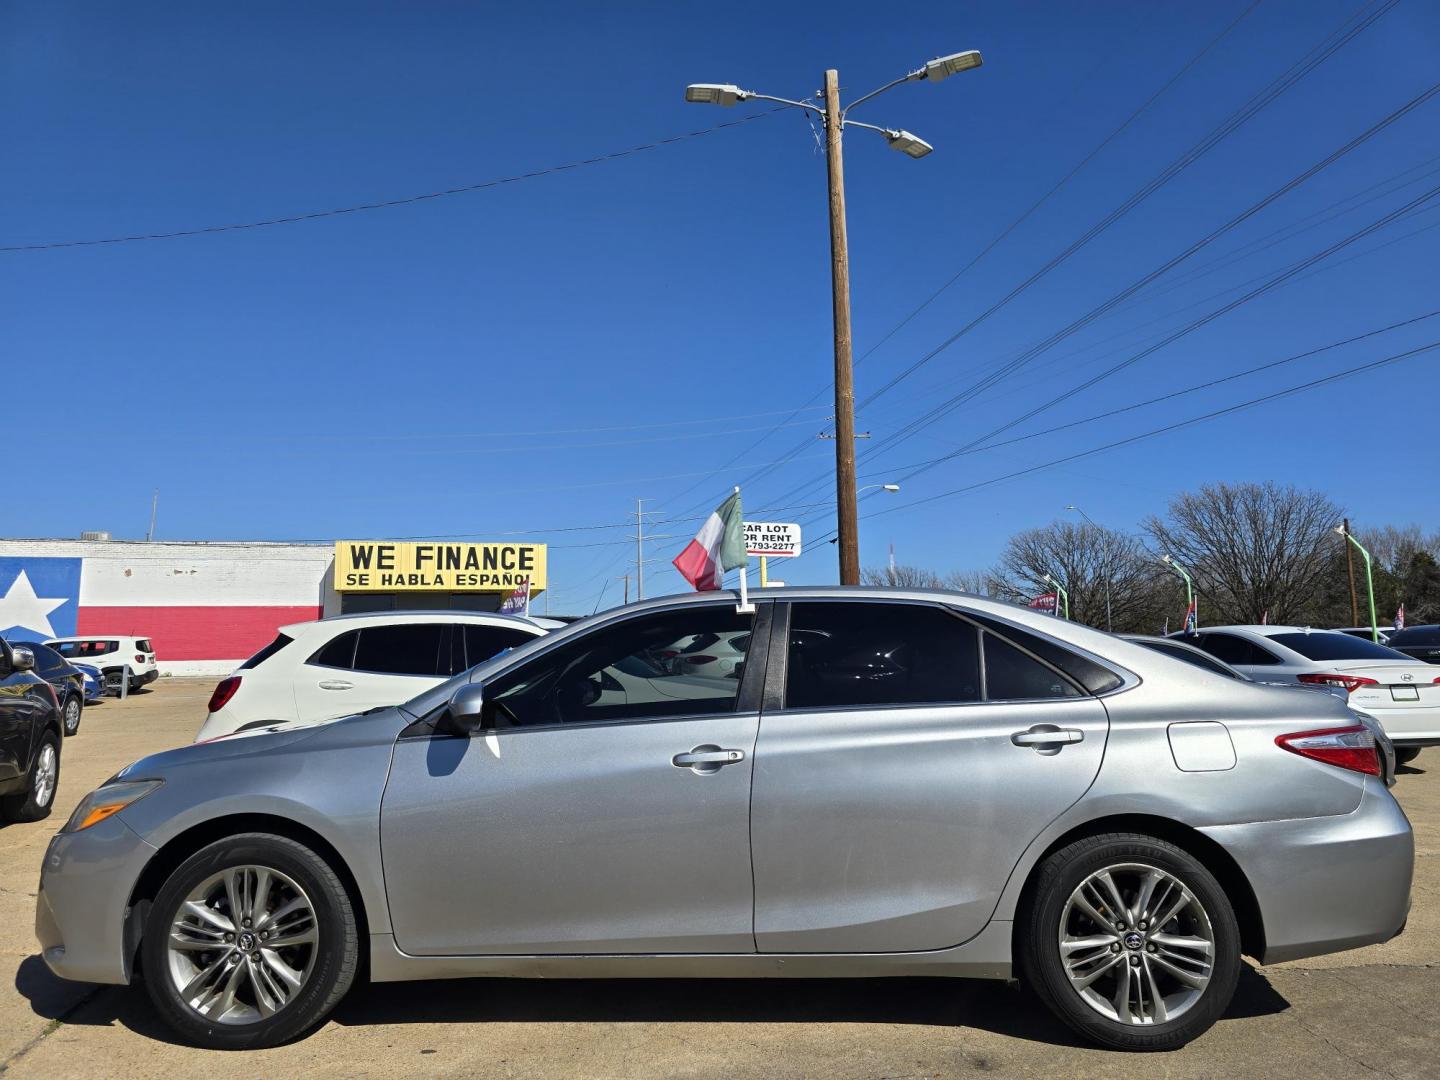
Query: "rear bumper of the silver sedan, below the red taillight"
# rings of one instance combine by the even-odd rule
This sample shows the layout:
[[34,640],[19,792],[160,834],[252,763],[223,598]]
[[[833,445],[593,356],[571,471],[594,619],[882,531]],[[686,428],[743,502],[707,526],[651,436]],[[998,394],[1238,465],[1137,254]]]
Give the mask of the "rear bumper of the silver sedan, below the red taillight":
[[1351,814],[1202,828],[1240,864],[1264,923],[1261,963],[1388,942],[1410,913],[1416,845],[1378,778]]

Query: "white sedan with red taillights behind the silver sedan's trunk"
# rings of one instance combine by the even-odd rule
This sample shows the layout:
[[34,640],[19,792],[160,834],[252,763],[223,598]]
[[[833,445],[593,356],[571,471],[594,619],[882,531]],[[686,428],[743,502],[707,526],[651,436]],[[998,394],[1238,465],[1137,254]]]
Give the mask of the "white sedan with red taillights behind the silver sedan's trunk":
[[1401,763],[1424,746],[1440,746],[1440,680],[1433,665],[1404,652],[1308,626],[1202,626],[1200,634],[1171,636],[1261,683],[1342,687],[1351,708],[1385,729]]

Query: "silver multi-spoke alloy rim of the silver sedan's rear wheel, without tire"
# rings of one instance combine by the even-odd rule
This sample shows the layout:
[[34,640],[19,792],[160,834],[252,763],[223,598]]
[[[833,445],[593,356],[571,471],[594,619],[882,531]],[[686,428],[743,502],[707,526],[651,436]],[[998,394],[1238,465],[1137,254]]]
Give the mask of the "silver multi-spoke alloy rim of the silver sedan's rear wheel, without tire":
[[1092,1009],[1120,1024],[1164,1024],[1205,994],[1215,963],[1210,914],[1184,881],[1143,863],[1086,877],[1060,919],[1060,960]]

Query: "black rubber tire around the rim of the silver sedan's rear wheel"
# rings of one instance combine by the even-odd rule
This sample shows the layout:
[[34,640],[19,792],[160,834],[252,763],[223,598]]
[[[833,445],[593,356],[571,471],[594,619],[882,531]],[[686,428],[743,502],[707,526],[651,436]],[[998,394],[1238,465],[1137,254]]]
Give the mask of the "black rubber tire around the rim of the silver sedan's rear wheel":
[[[1204,985],[1200,996],[1195,998],[1174,1020],[1161,1022],[1123,1022],[1117,1018],[1102,1015],[1092,1007],[1081,992],[1070,981],[1070,975],[1060,955],[1061,920],[1066,917],[1066,907],[1071,894],[1090,878],[1096,871],[1107,867],[1153,867],[1169,874],[1200,901],[1204,914],[1208,917],[1214,956],[1210,968],[1210,981]],[[1117,870],[1117,883],[1123,883],[1128,874],[1135,870]],[[1110,832],[1099,837],[1087,837],[1056,851],[1037,871],[1034,888],[1030,893],[1024,912],[1021,913],[1020,965],[1022,978],[1034,988],[1041,1001],[1060,1020],[1068,1024],[1084,1038],[1115,1050],[1176,1050],[1198,1035],[1204,1034],[1230,1005],[1236,992],[1236,981],[1240,978],[1240,926],[1225,891],[1215,881],[1214,876],[1187,851],[1168,844],[1166,841],[1146,837],[1136,832]],[[1123,888],[1122,888],[1123,893]],[[1122,904],[1130,903],[1133,896],[1122,894]],[[1159,901],[1156,901],[1159,903]],[[1110,906],[1113,907],[1113,904]],[[1195,917],[1187,909],[1185,919]],[[1081,926],[1093,924],[1081,912],[1077,917]],[[1123,913],[1120,919],[1123,919]],[[1171,927],[1175,920],[1164,926]],[[1116,927],[1125,926],[1116,922]],[[1129,963],[1135,972],[1138,986],[1155,989],[1161,986],[1161,1001],[1166,998],[1164,986],[1176,986],[1184,994],[1184,985],[1174,982],[1159,966],[1152,968],[1152,958],[1145,953],[1153,952],[1148,933],[1133,933],[1136,926],[1128,926],[1117,933],[1123,945],[1110,945],[1119,953],[1116,963]],[[1161,927],[1146,927],[1158,932]],[[1083,933],[1083,932],[1081,932]],[[1175,932],[1175,933],[1184,933]],[[1139,937],[1140,945],[1133,945],[1130,939]],[[1165,953],[1164,946],[1159,948]],[[1133,952],[1132,952],[1133,950]],[[1080,953],[1071,953],[1073,958]],[[1094,953],[1096,966],[1106,966],[1109,956],[1103,950]],[[1071,960],[1074,962],[1074,959]],[[1158,965],[1158,962],[1156,962]],[[1093,968],[1086,969],[1093,971]],[[1156,984],[1143,982],[1140,972],[1156,972]],[[1116,998],[1125,996],[1126,1008],[1130,1008],[1129,972],[1115,968],[1115,973],[1102,976],[1094,984],[1099,996],[1110,995],[1102,988],[1116,986]],[[1120,975],[1125,975],[1125,989],[1120,989]],[[1106,982],[1106,981],[1112,982]],[[1152,996],[1153,1002],[1153,996]],[[1171,1008],[1175,1008],[1174,998]],[[1116,1012],[1119,1009],[1116,1008]],[[1158,1009],[1153,1012],[1159,1015]]]

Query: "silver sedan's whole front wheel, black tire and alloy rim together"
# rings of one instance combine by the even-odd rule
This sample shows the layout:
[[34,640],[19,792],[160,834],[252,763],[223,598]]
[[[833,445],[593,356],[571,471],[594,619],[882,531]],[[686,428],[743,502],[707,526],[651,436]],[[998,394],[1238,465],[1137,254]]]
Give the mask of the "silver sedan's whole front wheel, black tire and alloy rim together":
[[287,837],[202,848],[150,910],[145,988],[189,1043],[252,1050],[315,1027],[354,981],[354,910],[334,870]]

